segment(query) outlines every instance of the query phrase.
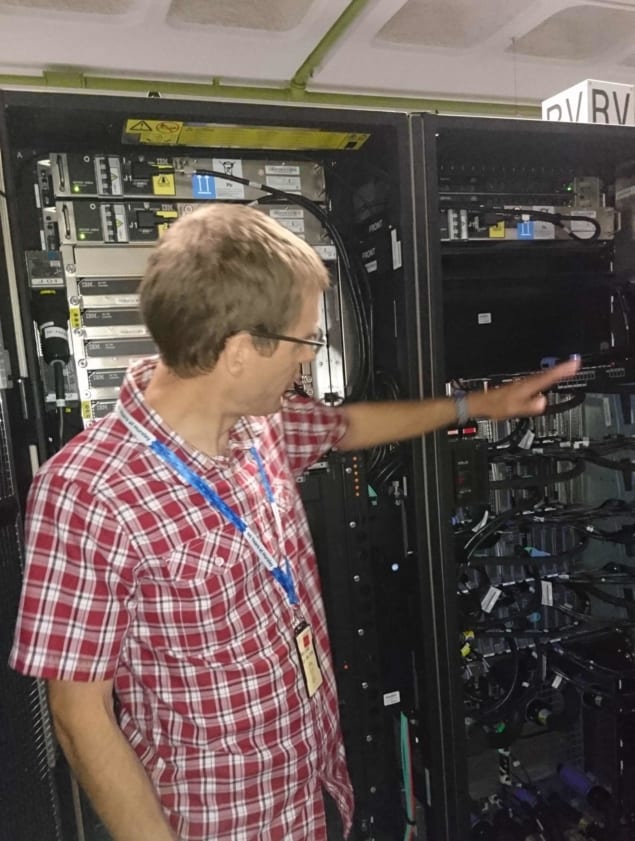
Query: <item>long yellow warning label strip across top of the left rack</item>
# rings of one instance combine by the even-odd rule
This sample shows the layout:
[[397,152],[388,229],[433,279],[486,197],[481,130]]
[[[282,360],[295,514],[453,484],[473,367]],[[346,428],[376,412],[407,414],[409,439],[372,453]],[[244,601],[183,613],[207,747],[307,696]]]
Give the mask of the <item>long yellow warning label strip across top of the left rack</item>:
[[330,131],[295,126],[234,126],[183,123],[170,120],[126,120],[123,140],[156,146],[199,146],[225,149],[309,149],[361,148],[367,132]]

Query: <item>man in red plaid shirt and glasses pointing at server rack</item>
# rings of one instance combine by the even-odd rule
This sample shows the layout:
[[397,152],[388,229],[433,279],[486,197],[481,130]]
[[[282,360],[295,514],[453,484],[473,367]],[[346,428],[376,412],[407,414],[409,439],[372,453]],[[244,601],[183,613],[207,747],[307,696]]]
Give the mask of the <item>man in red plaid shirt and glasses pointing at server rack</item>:
[[[71,767],[116,841],[324,841],[352,795],[296,478],[456,421],[451,399],[329,408],[284,398],[327,273],[260,211],[179,220],[141,286],[160,359],[36,476],[11,664],[48,681]],[[544,409],[568,363],[470,394],[470,416]]]

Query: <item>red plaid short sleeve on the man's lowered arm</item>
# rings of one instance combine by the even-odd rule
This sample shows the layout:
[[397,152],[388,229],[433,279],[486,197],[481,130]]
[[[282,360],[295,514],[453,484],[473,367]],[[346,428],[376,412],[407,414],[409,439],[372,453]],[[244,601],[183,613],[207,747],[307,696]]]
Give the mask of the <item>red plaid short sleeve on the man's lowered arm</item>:
[[89,487],[36,476],[9,665],[45,679],[112,678],[130,624],[131,555],[124,530]]

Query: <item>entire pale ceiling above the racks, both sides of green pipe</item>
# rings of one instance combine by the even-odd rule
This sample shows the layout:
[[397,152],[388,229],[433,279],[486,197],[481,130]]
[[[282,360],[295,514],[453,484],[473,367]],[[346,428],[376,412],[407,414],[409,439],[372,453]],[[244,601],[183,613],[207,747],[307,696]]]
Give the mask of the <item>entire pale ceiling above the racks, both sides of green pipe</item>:
[[[0,74],[285,88],[350,2],[0,0]],[[355,0],[354,10],[309,91],[536,104],[585,78],[635,81],[635,0]]]

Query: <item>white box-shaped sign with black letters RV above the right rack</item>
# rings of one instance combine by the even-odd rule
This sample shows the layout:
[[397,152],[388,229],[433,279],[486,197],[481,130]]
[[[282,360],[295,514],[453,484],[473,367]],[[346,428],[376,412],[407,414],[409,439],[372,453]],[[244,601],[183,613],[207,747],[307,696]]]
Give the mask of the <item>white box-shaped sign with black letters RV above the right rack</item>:
[[543,100],[542,119],[561,123],[635,125],[635,87],[585,79]]

